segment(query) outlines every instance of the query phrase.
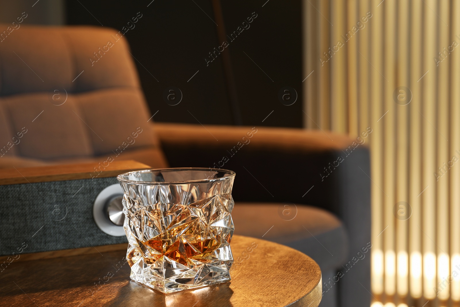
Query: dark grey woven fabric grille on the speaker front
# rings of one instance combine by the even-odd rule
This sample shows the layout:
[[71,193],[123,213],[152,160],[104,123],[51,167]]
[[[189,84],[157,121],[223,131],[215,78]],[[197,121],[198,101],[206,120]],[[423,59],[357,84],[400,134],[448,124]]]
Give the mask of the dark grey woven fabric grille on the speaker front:
[[1,185],[0,255],[126,243],[96,226],[94,200],[115,177]]

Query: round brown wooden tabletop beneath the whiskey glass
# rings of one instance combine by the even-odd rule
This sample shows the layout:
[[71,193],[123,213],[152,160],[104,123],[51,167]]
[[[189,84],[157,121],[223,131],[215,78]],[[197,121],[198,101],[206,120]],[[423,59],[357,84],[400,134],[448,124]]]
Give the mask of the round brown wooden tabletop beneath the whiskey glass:
[[[97,248],[97,247],[96,247]],[[317,307],[321,271],[309,256],[233,236],[231,282],[164,295],[129,278],[125,250],[12,261],[0,272],[0,306]],[[22,257],[22,256],[21,256]]]

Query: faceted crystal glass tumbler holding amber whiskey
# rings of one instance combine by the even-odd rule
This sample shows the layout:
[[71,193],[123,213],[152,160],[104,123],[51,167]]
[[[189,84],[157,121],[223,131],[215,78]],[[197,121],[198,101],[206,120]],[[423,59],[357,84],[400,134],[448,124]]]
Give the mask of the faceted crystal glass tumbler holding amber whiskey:
[[163,293],[230,280],[234,172],[166,168],[117,179],[132,280]]

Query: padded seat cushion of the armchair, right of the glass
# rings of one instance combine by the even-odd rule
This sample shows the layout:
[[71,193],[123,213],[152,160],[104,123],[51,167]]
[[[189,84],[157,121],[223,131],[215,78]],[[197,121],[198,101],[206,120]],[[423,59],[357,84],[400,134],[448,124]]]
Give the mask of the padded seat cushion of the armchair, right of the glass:
[[322,272],[339,268],[348,255],[342,222],[326,210],[293,203],[235,203],[235,234],[263,238],[309,255]]

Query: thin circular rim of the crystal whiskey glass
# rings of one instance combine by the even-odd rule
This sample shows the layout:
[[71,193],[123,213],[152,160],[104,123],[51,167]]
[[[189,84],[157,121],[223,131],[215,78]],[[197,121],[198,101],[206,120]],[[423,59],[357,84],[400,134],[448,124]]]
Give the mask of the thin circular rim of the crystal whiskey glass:
[[[207,179],[196,179],[196,180],[181,180],[181,181],[136,181],[136,180],[127,180],[123,178],[123,176],[127,176],[130,174],[135,173],[150,173],[153,171],[217,171],[228,174],[228,176],[221,177],[221,178],[207,178]],[[224,168],[151,168],[151,169],[143,169],[138,171],[127,172],[124,174],[120,174],[116,176],[116,179],[120,182],[124,183],[132,183],[136,185],[180,185],[180,184],[188,184],[188,183],[206,183],[206,182],[215,182],[221,180],[227,180],[230,178],[235,178],[236,173],[229,169]]]

